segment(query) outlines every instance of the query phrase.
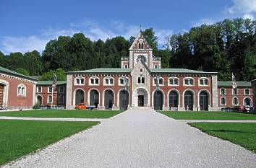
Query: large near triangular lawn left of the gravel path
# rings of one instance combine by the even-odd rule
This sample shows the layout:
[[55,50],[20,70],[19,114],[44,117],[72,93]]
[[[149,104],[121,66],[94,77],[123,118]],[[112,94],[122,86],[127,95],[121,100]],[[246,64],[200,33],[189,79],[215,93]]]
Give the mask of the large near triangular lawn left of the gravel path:
[[0,120],[0,165],[97,124],[98,122]]

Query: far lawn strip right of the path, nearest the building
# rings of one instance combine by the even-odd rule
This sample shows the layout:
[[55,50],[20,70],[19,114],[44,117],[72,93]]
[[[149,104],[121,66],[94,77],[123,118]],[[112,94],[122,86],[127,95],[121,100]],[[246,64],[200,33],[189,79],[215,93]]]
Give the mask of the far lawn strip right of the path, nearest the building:
[[163,111],[163,115],[176,120],[256,120],[256,115],[239,112],[171,112]]

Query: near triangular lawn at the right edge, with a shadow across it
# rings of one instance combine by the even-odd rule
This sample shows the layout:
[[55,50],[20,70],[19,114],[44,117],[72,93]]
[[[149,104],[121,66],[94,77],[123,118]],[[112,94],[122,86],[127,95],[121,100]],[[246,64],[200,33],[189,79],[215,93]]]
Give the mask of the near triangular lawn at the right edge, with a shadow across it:
[[189,125],[256,153],[256,123],[189,123]]

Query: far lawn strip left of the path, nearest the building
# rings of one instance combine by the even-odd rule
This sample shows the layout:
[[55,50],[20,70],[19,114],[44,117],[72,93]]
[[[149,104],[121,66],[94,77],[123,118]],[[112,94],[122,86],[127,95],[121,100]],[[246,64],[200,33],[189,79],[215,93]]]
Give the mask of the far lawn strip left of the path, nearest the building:
[[111,118],[123,110],[25,110],[0,112],[0,116],[29,118]]

